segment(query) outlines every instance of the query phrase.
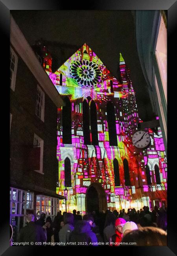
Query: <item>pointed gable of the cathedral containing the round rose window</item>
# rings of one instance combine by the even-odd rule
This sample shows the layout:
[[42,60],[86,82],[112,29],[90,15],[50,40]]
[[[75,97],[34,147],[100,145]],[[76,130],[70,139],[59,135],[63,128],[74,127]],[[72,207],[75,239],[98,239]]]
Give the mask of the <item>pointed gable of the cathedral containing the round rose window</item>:
[[[85,43],[55,72],[55,86],[84,89],[105,89],[113,79],[110,71]],[[50,75],[50,77],[52,77]],[[58,88],[57,88],[58,89]]]

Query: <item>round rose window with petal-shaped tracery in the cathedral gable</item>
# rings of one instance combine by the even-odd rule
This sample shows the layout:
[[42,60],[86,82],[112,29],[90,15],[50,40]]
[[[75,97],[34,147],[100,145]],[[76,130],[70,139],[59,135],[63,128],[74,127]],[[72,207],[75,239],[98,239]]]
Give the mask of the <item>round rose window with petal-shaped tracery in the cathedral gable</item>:
[[74,61],[70,66],[70,73],[82,87],[99,86],[101,82],[101,70],[92,61]]

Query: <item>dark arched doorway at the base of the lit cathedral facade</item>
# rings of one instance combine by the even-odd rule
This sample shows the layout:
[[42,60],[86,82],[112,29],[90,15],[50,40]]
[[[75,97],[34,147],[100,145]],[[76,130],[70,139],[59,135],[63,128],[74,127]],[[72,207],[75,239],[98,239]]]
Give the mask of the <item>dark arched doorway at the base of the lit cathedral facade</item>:
[[92,211],[107,210],[105,191],[100,184],[92,183],[88,187],[86,192],[85,209],[87,213]]

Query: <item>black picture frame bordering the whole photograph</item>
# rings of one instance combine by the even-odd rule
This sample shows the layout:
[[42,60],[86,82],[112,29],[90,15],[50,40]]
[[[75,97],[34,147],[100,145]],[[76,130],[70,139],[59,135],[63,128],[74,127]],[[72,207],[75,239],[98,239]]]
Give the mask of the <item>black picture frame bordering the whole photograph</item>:
[[[116,3],[115,3],[116,2]],[[9,60],[5,61],[7,59],[7,56],[9,54],[9,24],[10,24],[10,10],[56,10],[56,9],[68,9],[68,5],[61,4],[61,1],[57,0],[51,0],[51,1],[29,1],[29,0],[1,0],[0,2],[0,29],[1,29],[1,43],[2,43],[2,55],[4,54],[3,58],[3,76],[8,77],[9,76]],[[73,7],[73,9],[78,9],[76,3],[72,6],[70,4],[70,8]],[[81,7],[81,6],[79,6]],[[142,1],[142,0],[127,0],[127,1],[114,1],[114,0],[98,0],[98,1],[91,1],[89,4],[89,9],[94,10],[94,9],[100,9],[100,10],[168,10],[168,62],[172,59],[171,55],[173,54],[172,51],[175,51],[175,48],[173,48],[173,38],[174,38],[174,32],[175,32],[175,26],[176,26],[176,16],[177,16],[177,2],[175,0],[149,0],[149,1]],[[171,48],[172,47],[172,48]],[[5,72],[5,74],[4,74]],[[6,73],[7,72],[7,73]],[[168,77],[172,76],[173,70],[170,68],[168,69]],[[171,75],[170,75],[171,74]],[[169,82],[169,79],[168,79]],[[4,83],[5,85],[5,93],[8,95],[9,92],[6,92],[6,82]],[[4,86],[3,86],[4,87]],[[9,88],[9,86],[7,86]],[[3,93],[4,93],[3,91]],[[4,105],[5,106],[5,105]],[[6,108],[6,109],[4,109]],[[4,111],[5,110],[5,111]],[[3,122],[4,120],[7,120],[7,126],[9,127],[9,123],[7,119],[7,116],[9,117],[9,108],[7,106],[6,102],[6,107],[2,107],[3,113]],[[9,130],[7,130],[7,138],[9,138]],[[6,144],[3,143],[3,145],[7,145],[7,140],[5,142]],[[6,163],[9,162],[8,158],[8,149],[7,149],[7,158],[6,158]],[[171,159],[171,158],[170,158]],[[5,161],[5,159],[4,159]],[[3,172],[4,169],[2,169]],[[5,171],[4,171],[5,172]],[[37,250],[39,253],[39,250],[44,252],[44,249],[46,251],[46,247],[10,247],[9,245],[9,173],[7,171],[7,165],[6,165],[6,172],[5,172],[5,178],[2,178],[3,183],[5,184],[5,189],[4,193],[2,193],[2,197],[4,199],[4,203],[2,202],[2,225],[1,225],[1,247],[0,247],[0,253],[1,255],[32,255],[34,250]],[[168,212],[173,211],[173,206],[172,206],[172,194],[174,193],[173,191],[173,186],[172,186],[172,176],[169,172],[169,179],[168,179]],[[172,213],[171,213],[172,214]],[[175,214],[175,212],[173,213]],[[175,218],[170,218],[168,214],[168,246],[167,247],[131,247],[131,254],[136,254],[136,255],[153,255],[153,256],[172,256],[175,255],[174,252],[176,252],[176,236],[175,236],[175,231],[173,228],[173,222],[175,222]],[[54,248],[54,247],[53,247]],[[51,250],[53,250],[53,248]],[[75,250],[72,247],[70,249]],[[121,249],[123,248],[123,249]],[[125,250],[130,249],[129,247],[119,247],[117,248],[111,248],[109,247],[109,251],[114,250],[116,252],[118,250],[118,253],[126,253]],[[56,249],[56,247],[55,247]],[[78,249],[78,248],[77,248]],[[101,247],[92,247],[88,248],[87,250],[94,250],[94,252],[99,252]],[[105,248],[104,248],[105,249]],[[57,248],[58,252],[60,252],[61,247]],[[67,251],[67,248],[65,247],[65,253]],[[76,252],[76,251],[75,251]],[[78,252],[78,251],[77,251]],[[76,252],[76,253],[77,253]],[[114,253],[112,251],[112,253]],[[51,253],[54,253],[51,251]]]

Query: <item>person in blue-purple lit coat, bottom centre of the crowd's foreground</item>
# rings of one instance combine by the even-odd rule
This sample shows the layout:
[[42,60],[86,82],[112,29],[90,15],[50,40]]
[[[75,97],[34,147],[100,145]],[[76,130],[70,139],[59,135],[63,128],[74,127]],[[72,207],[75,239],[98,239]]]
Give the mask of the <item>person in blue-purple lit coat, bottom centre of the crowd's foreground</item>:
[[72,246],[98,246],[96,234],[92,232],[90,223],[87,221],[77,221],[69,241],[73,243]]

